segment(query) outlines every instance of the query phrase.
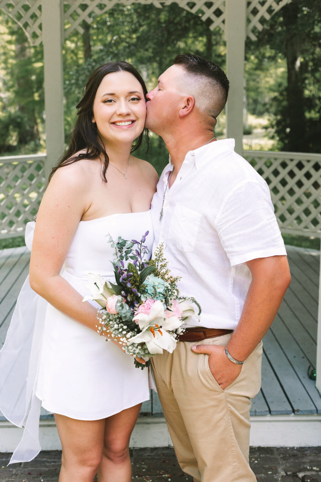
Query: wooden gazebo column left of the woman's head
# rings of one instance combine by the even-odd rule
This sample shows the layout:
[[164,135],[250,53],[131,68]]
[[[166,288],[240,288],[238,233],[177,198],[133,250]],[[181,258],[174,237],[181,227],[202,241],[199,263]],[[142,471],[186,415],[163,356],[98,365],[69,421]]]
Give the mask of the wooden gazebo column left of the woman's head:
[[63,56],[64,0],[42,0],[42,42],[46,113],[45,176],[64,152]]

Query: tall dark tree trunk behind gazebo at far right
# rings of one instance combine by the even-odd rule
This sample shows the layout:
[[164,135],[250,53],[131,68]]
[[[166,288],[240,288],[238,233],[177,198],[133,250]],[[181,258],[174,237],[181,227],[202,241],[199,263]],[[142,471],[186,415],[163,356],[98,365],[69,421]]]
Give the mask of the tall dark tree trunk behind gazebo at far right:
[[303,81],[300,73],[300,33],[297,27],[299,8],[293,0],[283,8],[283,21],[287,31],[285,51],[287,63],[287,114],[288,143],[286,150],[305,152],[305,113]]

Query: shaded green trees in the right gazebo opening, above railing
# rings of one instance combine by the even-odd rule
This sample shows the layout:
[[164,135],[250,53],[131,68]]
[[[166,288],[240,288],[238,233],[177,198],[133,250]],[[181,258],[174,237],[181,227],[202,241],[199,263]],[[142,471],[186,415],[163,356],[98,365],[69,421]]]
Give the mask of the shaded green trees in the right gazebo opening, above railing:
[[[268,26],[258,33],[257,42],[248,40],[246,47],[247,58],[256,57],[257,65],[268,67],[274,63],[277,67],[266,71],[267,80],[259,90],[263,93],[264,85],[271,82],[266,112],[278,148],[320,152],[320,0],[292,0],[272,16]],[[260,71],[257,77],[261,82]],[[249,87],[252,97],[254,91]]]

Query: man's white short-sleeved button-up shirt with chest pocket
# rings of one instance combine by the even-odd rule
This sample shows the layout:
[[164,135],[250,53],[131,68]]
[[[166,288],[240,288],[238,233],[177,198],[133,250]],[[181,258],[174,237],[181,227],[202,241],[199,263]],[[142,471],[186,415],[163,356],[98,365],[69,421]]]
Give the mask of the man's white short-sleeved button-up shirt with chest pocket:
[[251,282],[246,261],[286,254],[264,179],[234,152],[234,139],[186,154],[165,194],[171,161],[157,184],[151,212],[153,253],[164,253],[181,295],[201,305],[189,326],[234,329]]

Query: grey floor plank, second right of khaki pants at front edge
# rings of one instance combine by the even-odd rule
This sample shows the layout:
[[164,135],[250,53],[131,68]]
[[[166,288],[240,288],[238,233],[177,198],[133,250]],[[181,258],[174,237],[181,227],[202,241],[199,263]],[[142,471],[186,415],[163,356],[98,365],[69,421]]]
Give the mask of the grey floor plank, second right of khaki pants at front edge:
[[[264,347],[264,339],[263,339]],[[271,415],[292,414],[293,409],[288,402],[279,380],[275,376],[264,351],[262,356],[262,388]]]

